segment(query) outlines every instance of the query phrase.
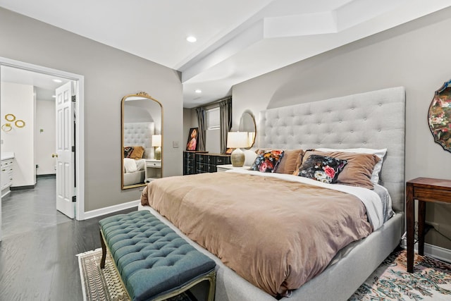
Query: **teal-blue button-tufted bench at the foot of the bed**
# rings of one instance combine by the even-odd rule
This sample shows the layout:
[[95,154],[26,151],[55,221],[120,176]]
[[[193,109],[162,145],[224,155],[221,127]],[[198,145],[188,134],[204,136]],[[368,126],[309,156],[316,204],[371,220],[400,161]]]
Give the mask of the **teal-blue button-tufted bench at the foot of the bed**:
[[214,300],[215,262],[147,210],[99,221],[101,269],[108,248],[131,300],[166,300],[209,281]]

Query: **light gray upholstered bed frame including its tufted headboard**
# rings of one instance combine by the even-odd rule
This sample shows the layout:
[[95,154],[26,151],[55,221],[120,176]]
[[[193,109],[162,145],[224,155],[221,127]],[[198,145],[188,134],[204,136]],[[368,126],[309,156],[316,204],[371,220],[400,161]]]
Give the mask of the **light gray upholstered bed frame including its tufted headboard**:
[[[390,192],[395,210],[395,216],[381,228],[345,247],[335,257],[335,264],[330,264],[321,274],[293,291],[291,297],[281,300],[347,300],[399,245],[404,226],[404,124],[404,87],[268,109],[260,113],[257,134],[261,148],[387,148],[381,185]],[[159,216],[150,207],[140,206],[140,209],[150,210]],[[220,259],[192,242],[177,228],[175,231],[216,261],[216,301],[276,300],[235,274]]]

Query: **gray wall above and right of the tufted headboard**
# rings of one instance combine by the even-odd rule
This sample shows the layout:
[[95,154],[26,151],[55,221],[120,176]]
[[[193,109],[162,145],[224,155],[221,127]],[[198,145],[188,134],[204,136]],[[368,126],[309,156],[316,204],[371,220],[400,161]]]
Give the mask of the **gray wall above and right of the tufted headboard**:
[[[427,122],[435,90],[451,79],[450,28],[451,8],[446,8],[235,85],[233,128],[245,110],[258,118],[264,109],[404,86],[405,178],[451,179],[451,152],[434,142]],[[426,207],[426,221],[439,223],[440,232],[451,237],[450,205]],[[433,231],[426,242],[451,249],[450,240]]]

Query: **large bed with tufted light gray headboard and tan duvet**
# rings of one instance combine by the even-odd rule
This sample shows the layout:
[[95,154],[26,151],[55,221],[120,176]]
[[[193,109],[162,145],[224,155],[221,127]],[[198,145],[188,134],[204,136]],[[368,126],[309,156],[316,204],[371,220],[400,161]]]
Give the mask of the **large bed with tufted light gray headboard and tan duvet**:
[[[304,151],[315,149],[316,152],[326,152],[326,154],[338,152],[338,150],[342,153],[349,149],[352,149],[352,153],[362,151],[362,149],[387,149],[383,156],[380,180],[377,182],[380,185],[374,185],[372,190],[356,188],[371,197],[374,195],[379,197],[388,191],[390,197],[385,195],[383,198],[388,199],[387,202],[391,202],[393,211],[382,210],[386,213],[385,215],[375,215],[370,209],[374,205],[366,204],[367,200],[361,199],[357,192],[347,190],[348,188],[354,190],[353,186],[340,183],[323,184],[309,178],[302,179],[302,183],[297,183],[298,178],[304,177],[283,174],[281,175],[283,179],[280,180],[280,176],[276,173],[262,175],[263,173],[259,174],[259,171],[184,176],[187,177],[185,180],[183,180],[183,176],[156,180],[143,190],[140,209],[152,211],[162,221],[175,228],[179,235],[216,261],[216,300],[276,300],[276,298],[281,300],[347,300],[378,264],[399,245],[402,236],[404,224],[404,107],[404,88],[394,87],[320,102],[268,109],[259,115],[257,133],[260,149],[302,149]],[[311,158],[314,158],[314,155],[312,152],[309,154]],[[330,156],[321,156],[322,159],[325,157],[329,158]],[[306,161],[308,161],[308,157]],[[349,162],[350,160],[347,161],[347,163]],[[342,171],[344,172],[345,168],[342,168]],[[264,180],[256,180],[257,178]],[[293,180],[295,178],[296,180]],[[228,182],[232,179],[241,183],[242,188],[237,188],[237,184],[234,184],[234,188],[231,189]],[[182,182],[178,182],[180,180]],[[215,189],[214,185],[208,186],[209,181],[211,184],[216,183],[218,188]],[[263,208],[257,206],[258,203],[254,203],[255,199],[264,199],[265,195],[270,194],[259,190],[263,189],[261,188],[262,181],[266,183],[266,186],[276,188],[273,199],[265,200],[270,207]],[[279,186],[280,181],[283,184]],[[192,183],[185,184],[184,182]],[[309,223],[304,223],[304,221],[311,219],[313,222],[319,214],[315,213],[316,215],[309,217],[310,209],[307,208],[310,207],[305,207],[305,211],[308,211],[307,214],[303,214],[302,209],[294,208],[295,206],[292,204],[290,206],[293,207],[290,207],[288,211],[279,211],[281,207],[278,202],[288,203],[290,193],[293,198],[301,192],[307,193],[304,191],[309,190],[310,188],[307,186],[310,187],[313,183],[316,186],[324,185],[324,187],[318,188],[323,189],[321,192],[318,192],[316,188],[313,191],[311,188],[313,194],[325,197],[320,204],[325,204],[326,199],[334,200],[334,202],[327,203],[327,206],[322,206],[322,209],[337,211],[339,216],[345,214],[345,211],[352,211],[352,216],[360,217],[356,220],[357,226],[355,227],[350,226],[354,220],[345,217],[345,222],[342,224],[345,225],[345,232],[350,233],[347,235],[342,232],[335,233],[338,241],[332,240],[329,244],[322,242],[314,244],[313,247],[309,245],[307,250],[302,248],[301,251],[291,250],[292,245],[285,247],[285,243],[282,242],[282,237],[287,236],[288,241],[292,241],[297,235],[297,233],[295,236],[285,235],[285,231],[288,232],[289,228],[295,228],[293,223],[296,220],[288,220],[290,210],[294,212],[295,218],[300,216],[299,223],[302,221],[302,228],[308,230],[304,231],[305,233],[313,233],[317,228],[311,228]],[[175,188],[169,189],[171,185]],[[295,188],[292,185],[296,185]],[[335,185],[334,188],[338,188],[339,191],[330,189],[330,185]],[[242,190],[247,190],[247,192]],[[191,195],[194,192],[196,193]],[[202,193],[209,197],[211,205],[208,202],[197,205],[196,200],[202,197]],[[328,197],[328,194],[331,195]],[[341,198],[338,197],[340,194],[348,195],[347,199],[349,202],[352,199],[352,203],[348,204],[346,197],[340,200]],[[178,198],[178,195],[181,197]],[[237,200],[240,202],[236,202]],[[333,204],[335,200],[337,204]],[[147,202],[154,208],[147,206]],[[235,203],[229,204],[228,202]],[[227,215],[223,213],[226,212],[226,209],[228,211],[230,208],[233,211],[233,208],[239,203],[242,203],[240,205],[242,207],[237,211],[243,212],[245,217],[231,221],[223,218],[224,215]],[[318,207],[315,204],[313,206]],[[206,207],[216,208],[216,211],[207,212]],[[198,217],[192,211],[197,212]],[[235,212],[230,215],[237,214]],[[323,211],[322,214],[327,216],[330,211]],[[214,218],[207,219],[208,215],[213,215]],[[271,216],[275,219],[273,225],[282,224],[285,228],[275,230],[276,233],[274,233],[271,229],[274,227],[266,224],[271,223]],[[285,216],[287,219],[284,218]],[[214,224],[215,220],[218,221],[216,225]],[[252,232],[252,228],[255,228],[254,225],[257,225],[259,220],[265,221],[263,225],[259,224],[259,227],[265,226],[266,228],[257,228]],[[321,220],[321,223],[323,221],[326,227],[330,227],[330,223],[332,226],[336,226],[340,222],[340,217],[330,215],[327,219]],[[204,228],[197,228],[196,225],[202,225],[202,223],[206,223]],[[177,225],[182,231],[174,225]],[[221,231],[220,228],[225,228],[226,231]],[[215,233],[211,229],[216,229],[217,236],[228,237],[228,240],[226,242],[216,241],[214,242],[216,245],[210,245],[209,240],[215,238]],[[268,233],[266,235],[268,237],[254,239],[255,233],[258,232]],[[309,240],[316,241],[316,238]],[[224,251],[226,249],[224,246],[233,245],[228,242],[236,242],[235,247],[238,248],[240,244],[245,245],[248,241],[250,245],[257,246],[256,250],[252,250],[252,252],[247,250],[249,251],[247,262],[254,263],[249,268],[240,268],[240,263],[234,262],[235,259],[230,256],[230,252]],[[259,241],[261,241],[261,245],[258,245]],[[206,245],[211,252],[206,251],[200,245]],[[304,244],[298,245],[303,246]],[[268,257],[271,260],[265,261],[266,257],[257,260],[264,252],[265,246],[270,246],[269,250],[277,252],[269,252],[274,254],[273,257]],[[321,248],[327,249],[327,254],[321,253],[316,256],[314,252],[310,252],[310,250]],[[288,252],[278,253],[278,249],[286,249]],[[239,254],[237,257],[246,257],[245,251],[236,249],[236,253]],[[296,252],[303,254],[304,258],[301,259],[304,265],[297,266],[299,257],[292,256]],[[218,254],[218,256],[212,253]],[[286,258],[280,259],[280,256]],[[289,261],[288,257],[293,257],[294,261]],[[315,259],[315,257],[319,257],[319,259]],[[326,264],[317,266],[316,263],[321,260]],[[271,266],[271,264],[273,265]],[[277,266],[281,266],[282,270],[274,272]],[[243,270],[249,270],[249,273]],[[266,270],[273,274],[265,274]],[[308,275],[304,274],[304,270]],[[255,280],[249,278],[249,274],[257,274],[257,277],[259,274],[264,274],[264,276]],[[291,274],[293,277],[290,276]],[[290,278],[286,278],[280,283],[280,276],[284,275],[288,275]],[[299,278],[302,279],[299,280]]]

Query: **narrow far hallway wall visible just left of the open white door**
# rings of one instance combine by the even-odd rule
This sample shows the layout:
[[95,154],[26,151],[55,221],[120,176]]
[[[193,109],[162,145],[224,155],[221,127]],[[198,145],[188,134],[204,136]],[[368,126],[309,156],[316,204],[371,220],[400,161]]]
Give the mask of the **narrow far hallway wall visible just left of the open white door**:
[[36,102],[36,168],[37,175],[55,174],[56,159],[51,157],[56,151],[55,101]]

